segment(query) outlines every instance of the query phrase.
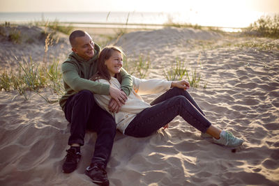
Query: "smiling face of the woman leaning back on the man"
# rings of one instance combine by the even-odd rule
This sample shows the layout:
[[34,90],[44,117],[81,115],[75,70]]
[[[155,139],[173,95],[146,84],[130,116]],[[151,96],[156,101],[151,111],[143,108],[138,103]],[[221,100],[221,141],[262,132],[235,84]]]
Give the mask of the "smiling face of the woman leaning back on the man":
[[112,56],[110,56],[110,59],[105,61],[105,65],[107,66],[107,70],[109,70],[110,75],[114,77],[115,74],[120,72],[120,69],[123,65],[121,53],[114,50],[112,52]]

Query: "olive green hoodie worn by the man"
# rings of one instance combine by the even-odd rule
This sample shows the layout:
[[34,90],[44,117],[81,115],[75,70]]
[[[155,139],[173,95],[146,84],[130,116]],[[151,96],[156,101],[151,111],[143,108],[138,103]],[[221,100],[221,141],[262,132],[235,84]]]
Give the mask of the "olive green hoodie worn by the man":
[[[110,85],[89,80],[97,72],[97,59],[99,53],[100,47],[95,44],[94,56],[89,59],[89,61],[86,61],[72,52],[68,56],[68,59],[62,63],[61,70],[64,88],[66,90],[65,95],[59,100],[62,109],[64,109],[66,101],[71,95],[75,95],[82,90],[89,90],[92,93],[102,95],[110,94]],[[121,89],[126,95],[129,95],[133,88],[133,79],[125,70],[123,70],[123,68],[121,68],[120,73],[122,79]]]

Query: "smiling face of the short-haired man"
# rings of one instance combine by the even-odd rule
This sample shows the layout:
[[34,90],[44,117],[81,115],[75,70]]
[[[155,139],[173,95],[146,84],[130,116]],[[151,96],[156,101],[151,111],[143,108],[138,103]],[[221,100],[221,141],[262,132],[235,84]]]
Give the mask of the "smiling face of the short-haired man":
[[89,60],[94,56],[94,42],[86,33],[83,37],[75,38],[75,46],[72,50],[83,59]]

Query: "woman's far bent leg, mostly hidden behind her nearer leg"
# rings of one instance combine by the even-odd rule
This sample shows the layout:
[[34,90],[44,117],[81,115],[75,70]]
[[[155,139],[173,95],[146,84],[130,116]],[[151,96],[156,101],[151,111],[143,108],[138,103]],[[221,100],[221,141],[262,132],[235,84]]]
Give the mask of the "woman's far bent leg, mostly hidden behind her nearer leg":
[[169,98],[172,98],[176,95],[183,95],[187,100],[190,101],[190,103],[192,103],[196,107],[197,110],[199,110],[202,113],[202,115],[205,116],[204,112],[202,111],[202,109],[199,108],[199,105],[197,104],[197,102],[195,102],[195,100],[190,95],[190,93],[188,93],[188,91],[183,90],[182,88],[174,87],[172,89],[169,89],[169,91],[160,95],[158,98],[153,100],[150,104],[151,105],[158,104],[159,102],[168,100]]

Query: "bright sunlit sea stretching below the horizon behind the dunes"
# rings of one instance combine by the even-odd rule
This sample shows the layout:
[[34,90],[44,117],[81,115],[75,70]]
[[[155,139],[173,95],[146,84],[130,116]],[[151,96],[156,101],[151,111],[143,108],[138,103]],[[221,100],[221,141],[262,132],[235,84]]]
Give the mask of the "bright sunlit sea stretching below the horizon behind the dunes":
[[[86,27],[119,27],[160,29],[167,23],[198,24],[195,15],[188,13],[140,13],[140,12],[71,12],[71,13],[0,13],[0,23],[32,24],[57,21],[61,24]],[[216,26],[216,25],[214,25]],[[233,26],[217,25],[224,31],[238,31]]]

